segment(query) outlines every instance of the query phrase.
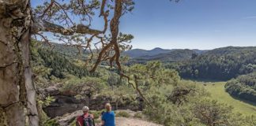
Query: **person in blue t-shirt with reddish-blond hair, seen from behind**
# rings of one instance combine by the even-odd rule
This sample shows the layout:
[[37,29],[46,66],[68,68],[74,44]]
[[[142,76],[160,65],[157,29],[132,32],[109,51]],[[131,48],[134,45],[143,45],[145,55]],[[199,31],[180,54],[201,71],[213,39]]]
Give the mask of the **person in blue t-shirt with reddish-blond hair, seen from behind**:
[[111,104],[107,103],[105,108],[107,112],[103,113],[101,117],[102,126],[115,126],[115,113],[111,111]]

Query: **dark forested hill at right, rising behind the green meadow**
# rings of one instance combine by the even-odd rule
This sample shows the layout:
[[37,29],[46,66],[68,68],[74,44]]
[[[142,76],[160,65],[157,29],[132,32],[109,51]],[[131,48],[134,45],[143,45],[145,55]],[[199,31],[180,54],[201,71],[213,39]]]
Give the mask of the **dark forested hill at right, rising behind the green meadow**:
[[254,71],[256,46],[228,46],[209,50],[186,61],[167,65],[183,78],[230,80]]

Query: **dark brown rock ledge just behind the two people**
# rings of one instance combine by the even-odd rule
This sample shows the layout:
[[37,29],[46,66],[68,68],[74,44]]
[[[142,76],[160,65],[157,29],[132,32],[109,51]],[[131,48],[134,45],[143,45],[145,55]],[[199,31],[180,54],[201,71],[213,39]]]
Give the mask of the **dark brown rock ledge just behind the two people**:
[[73,113],[83,106],[88,106],[94,110],[101,110],[104,109],[104,105],[107,102],[111,103],[113,109],[141,109],[140,106],[134,105],[134,100],[132,99],[124,98],[122,101],[126,102],[117,104],[113,98],[102,95],[92,95],[90,98],[88,98],[89,95],[85,95],[83,98],[76,98],[75,93],[72,91],[59,91],[58,86],[47,87],[41,90],[41,92],[45,96],[50,95],[55,98],[55,101],[51,102],[50,106],[43,108],[43,111],[51,118],[60,117],[66,113]]

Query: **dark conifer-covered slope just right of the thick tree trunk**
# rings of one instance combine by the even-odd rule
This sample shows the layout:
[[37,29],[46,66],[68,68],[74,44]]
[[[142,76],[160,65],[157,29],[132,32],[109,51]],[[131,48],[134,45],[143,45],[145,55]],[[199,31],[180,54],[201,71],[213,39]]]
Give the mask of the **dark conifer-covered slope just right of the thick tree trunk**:
[[51,44],[52,46],[48,46],[37,41],[32,41],[30,44],[34,72],[38,71],[39,75],[43,75],[42,71],[47,71],[43,75],[47,79],[51,76],[63,79],[66,73],[77,77],[97,74],[91,74],[84,66],[76,64],[77,57],[80,56],[77,56],[78,50],[75,47]]

